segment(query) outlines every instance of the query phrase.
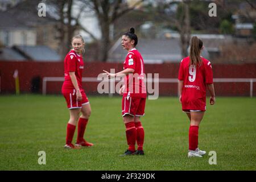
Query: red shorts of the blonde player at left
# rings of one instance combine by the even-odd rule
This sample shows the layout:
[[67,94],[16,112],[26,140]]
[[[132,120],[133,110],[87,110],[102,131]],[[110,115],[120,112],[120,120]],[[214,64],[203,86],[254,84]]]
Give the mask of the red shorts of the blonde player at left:
[[82,108],[82,105],[89,104],[89,100],[86,97],[84,90],[80,89],[82,94],[82,100],[76,100],[76,90],[75,89],[62,89],[62,94],[67,102],[68,109]]

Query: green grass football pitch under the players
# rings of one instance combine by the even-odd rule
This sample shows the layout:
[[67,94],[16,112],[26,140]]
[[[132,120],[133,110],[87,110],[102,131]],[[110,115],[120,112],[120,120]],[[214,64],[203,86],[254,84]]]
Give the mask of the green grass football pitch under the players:
[[[187,116],[175,97],[147,100],[141,119],[144,156],[121,157],[126,148],[121,97],[89,96],[85,138],[93,147],[65,150],[69,119],[62,96],[0,96],[0,170],[255,170],[256,98],[217,98],[199,130],[203,158],[187,158]],[[209,102],[209,98],[207,100]],[[74,140],[76,138],[76,133]],[[38,152],[46,152],[46,165]],[[210,165],[216,151],[217,165]]]

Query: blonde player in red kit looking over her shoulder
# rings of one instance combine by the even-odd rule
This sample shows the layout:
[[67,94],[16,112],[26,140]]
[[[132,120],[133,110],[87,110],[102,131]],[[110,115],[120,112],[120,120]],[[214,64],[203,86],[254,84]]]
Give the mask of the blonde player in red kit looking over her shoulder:
[[[82,54],[84,53],[84,39],[82,36],[74,36],[72,38],[73,49],[67,54],[64,60],[65,79],[61,92],[67,101],[69,109],[69,121],[67,126],[67,137],[64,148],[81,148],[81,146],[90,147],[92,143],[86,142],[84,133],[91,109],[88,98],[82,89],[82,71],[84,70],[84,61]],[[79,117],[80,112],[82,113]],[[77,140],[75,146],[72,144],[73,136],[77,129]]]

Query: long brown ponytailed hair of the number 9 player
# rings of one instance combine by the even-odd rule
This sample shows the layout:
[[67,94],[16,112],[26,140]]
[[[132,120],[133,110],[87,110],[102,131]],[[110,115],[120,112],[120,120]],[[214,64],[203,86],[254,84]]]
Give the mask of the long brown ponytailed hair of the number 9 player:
[[201,39],[197,38],[197,36],[193,36],[190,42],[190,49],[189,49],[189,65],[200,65],[202,60],[200,57],[200,51],[203,47],[203,42]]

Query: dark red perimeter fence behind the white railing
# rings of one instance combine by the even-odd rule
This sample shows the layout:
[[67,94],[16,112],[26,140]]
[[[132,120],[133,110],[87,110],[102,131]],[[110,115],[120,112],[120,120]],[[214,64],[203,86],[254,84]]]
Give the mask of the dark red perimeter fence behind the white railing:
[[[212,63],[212,66],[217,96],[256,96],[256,64]],[[13,75],[16,69],[18,70],[20,93],[42,93],[44,77],[64,77],[62,61],[57,63],[0,61],[1,94],[15,93]],[[119,72],[122,71],[123,65],[121,63],[85,63],[82,77],[95,80],[103,69],[106,71],[115,69],[115,72]],[[147,73],[152,73],[152,75],[159,73],[160,96],[177,96],[177,82],[175,79],[177,79],[179,63],[145,64],[145,71],[146,75]],[[60,94],[62,83],[63,81],[45,82],[44,85],[47,86],[45,92],[47,94]],[[86,94],[98,94],[98,84],[98,81],[82,82]]]

